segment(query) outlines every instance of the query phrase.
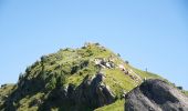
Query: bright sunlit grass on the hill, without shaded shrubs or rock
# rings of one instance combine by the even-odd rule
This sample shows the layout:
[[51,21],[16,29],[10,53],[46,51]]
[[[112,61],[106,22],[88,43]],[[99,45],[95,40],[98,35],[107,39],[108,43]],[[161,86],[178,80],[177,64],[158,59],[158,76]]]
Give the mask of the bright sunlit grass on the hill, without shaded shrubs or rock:
[[[56,81],[51,82],[52,80],[48,80],[48,78],[56,78],[54,73],[59,74],[61,72],[65,75],[64,85],[72,83],[75,87],[77,87],[86,75],[90,75],[92,78],[94,74],[97,73],[98,69],[94,67],[95,64],[93,62],[95,58],[107,59],[108,57],[112,57],[112,56],[114,57],[115,64],[123,64],[125,68],[132,69],[142,79],[144,78],[161,79],[160,77],[156,74],[153,74],[150,72],[145,72],[145,71],[135,69],[130,67],[129,64],[126,64],[119,57],[117,57],[115,53],[113,53],[108,49],[105,49],[96,44],[90,44],[87,47],[83,47],[76,50],[64,49],[64,50],[60,50],[56,53],[43,56],[41,58],[41,61],[36,61],[31,67],[27,68],[25,73],[23,74],[23,78],[27,80],[32,80],[32,79],[41,80],[40,78],[42,77],[43,78],[42,80],[46,82],[45,87],[48,87],[48,85],[52,85],[51,83],[56,82]],[[88,65],[86,68],[82,68],[82,69],[79,68],[73,74],[70,74],[73,67],[81,65],[82,62],[84,61],[88,62]],[[44,67],[42,68],[42,65]],[[138,84],[140,84],[142,81],[136,82],[135,80],[130,79],[130,77],[124,74],[118,68],[103,69],[102,72],[104,72],[106,77],[106,79],[104,80],[104,83],[112,89],[114,94],[117,97],[117,101],[113,104],[100,108],[97,109],[97,111],[111,111],[111,110],[122,111],[124,101],[119,100],[119,98],[122,97],[124,92],[128,92],[135,87],[137,87]],[[31,89],[33,88],[34,87],[31,87]],[[19,103],[17,103],[17,104],[21,104],[18,110],[22,111],[22,110],[29,109],[30,108],[29,104],[31,104],[32,101],[41,99],[44,93],[38,92],[34,95],[28,95],[21,99]],[[38,107],[32,107],[30,109],[36,110]]]

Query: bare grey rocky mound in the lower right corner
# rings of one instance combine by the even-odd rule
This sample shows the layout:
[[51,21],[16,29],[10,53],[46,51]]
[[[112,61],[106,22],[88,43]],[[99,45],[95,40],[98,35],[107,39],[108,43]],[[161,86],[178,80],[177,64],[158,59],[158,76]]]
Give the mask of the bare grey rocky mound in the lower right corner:
[[146,80],[125,99],[125,111],[188,111],[188,98],[157,79]]

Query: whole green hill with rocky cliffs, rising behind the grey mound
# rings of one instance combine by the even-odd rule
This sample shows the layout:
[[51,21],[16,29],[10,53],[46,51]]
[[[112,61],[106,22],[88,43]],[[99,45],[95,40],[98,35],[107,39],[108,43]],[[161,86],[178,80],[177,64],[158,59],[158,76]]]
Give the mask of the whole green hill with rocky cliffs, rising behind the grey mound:
[[98,43],[86,43],[81,49],[66,48],[43,56],[28,67],[7,98],[0,98],[0,110],[112,108],[112,103],[118,103],[125,93],[150,78],[160,77],[133,68]]

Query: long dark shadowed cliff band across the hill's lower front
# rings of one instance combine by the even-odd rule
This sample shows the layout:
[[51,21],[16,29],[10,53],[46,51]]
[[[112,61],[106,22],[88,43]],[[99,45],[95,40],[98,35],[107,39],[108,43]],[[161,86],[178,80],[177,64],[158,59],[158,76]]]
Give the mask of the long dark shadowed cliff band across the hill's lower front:
[[[53,90],[49,98],[45,100],[40,110],[48,110],[52,104],[58,104],[60,102],[62,105],[72,105],[71,111],[82,111],[81,107],[94,110],[96,108],[103,107],[105,104],[113,103],[115,101],[115,95],[111,91],[109,87],[103,83],[105,79],[103,73],[97,73],[92,78],[85,77],[83,82],[75,87],[69,84],[64,89]],[[66,108],[67,110],[67,108]]]

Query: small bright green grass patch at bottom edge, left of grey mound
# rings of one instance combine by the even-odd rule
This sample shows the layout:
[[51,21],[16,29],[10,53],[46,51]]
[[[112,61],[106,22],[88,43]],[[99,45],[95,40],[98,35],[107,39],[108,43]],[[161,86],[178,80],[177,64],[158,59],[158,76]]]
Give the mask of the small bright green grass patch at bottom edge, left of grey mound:
[[117,100],[116,102],[98,108],[94,111],[124,111],[124,100]]

